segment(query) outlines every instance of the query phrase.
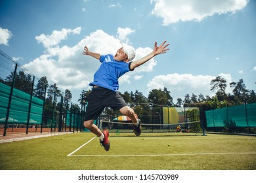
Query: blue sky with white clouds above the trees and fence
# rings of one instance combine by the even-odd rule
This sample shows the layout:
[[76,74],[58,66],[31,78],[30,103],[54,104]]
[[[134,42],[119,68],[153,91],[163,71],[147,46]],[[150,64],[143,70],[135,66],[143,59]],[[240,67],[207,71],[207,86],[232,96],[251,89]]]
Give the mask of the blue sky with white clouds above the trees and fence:
[[131,44],[136,59],[167,41],[170,50],[119,78],[120,92],[167,88],[177,97],[214,95],[217,76],[244,80],[256,91],[255,0],[1,0],[0,49],[38,78],[47,76],[76,102],[100,62],[83,56],[115,54],[119,41]]

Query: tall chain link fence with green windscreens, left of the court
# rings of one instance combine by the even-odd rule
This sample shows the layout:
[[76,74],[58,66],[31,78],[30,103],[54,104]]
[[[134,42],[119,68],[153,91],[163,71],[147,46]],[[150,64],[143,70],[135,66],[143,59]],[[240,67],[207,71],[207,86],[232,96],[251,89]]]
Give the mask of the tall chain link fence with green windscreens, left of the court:
[[83,112],[71,99],[0,50],[0,135],[80,131]]

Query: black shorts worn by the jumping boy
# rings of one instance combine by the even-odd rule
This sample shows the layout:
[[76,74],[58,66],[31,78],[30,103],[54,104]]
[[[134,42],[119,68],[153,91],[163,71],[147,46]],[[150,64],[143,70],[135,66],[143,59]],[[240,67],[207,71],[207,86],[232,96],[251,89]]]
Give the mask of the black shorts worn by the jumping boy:
[[85,121],[96,120],[105,107],[119,110],[127,106],[119,92],[114,92],[106,88],[93,88],[93,91],[87,97],[87,101]]

